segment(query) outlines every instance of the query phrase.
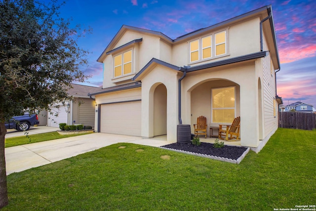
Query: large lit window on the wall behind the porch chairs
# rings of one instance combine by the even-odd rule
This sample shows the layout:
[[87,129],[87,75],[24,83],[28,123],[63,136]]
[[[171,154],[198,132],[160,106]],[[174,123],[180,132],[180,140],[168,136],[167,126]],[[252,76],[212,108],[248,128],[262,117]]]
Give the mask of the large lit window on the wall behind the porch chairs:
[[235,86],[212,88],[212,123],[232,123],[235,111]]

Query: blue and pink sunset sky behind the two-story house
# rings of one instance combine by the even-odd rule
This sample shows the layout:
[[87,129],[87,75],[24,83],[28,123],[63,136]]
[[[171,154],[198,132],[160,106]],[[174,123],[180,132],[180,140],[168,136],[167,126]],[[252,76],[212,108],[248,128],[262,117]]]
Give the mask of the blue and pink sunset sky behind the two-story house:
[[283,104],[296,101],[316,107],[316,0],[67,0],[60,16],[91,27],[79,39],[90,51],[87,85],[102,84],[96,62],[122,25],[159,31],[175,39],[237,15],[272,4],[281,69],[277,94]]

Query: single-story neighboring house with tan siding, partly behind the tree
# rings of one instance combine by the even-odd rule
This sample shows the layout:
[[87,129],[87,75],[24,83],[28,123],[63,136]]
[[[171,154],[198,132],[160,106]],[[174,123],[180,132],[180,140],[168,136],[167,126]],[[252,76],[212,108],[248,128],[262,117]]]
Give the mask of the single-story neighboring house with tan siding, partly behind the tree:
[[[67,125],[82,124],[94,127],[95,120],[95,100],[88,96],[88,93],[100,91],[101,87],[72,84],[73,88],[68,90],[68,94],[74,97],[74,101],[66,102],[65,105],[56,104],[51,106],[52,114],[47,112],[47,126],[59,127],[60,123]],[[56,113],[58,116],[56,117]]]

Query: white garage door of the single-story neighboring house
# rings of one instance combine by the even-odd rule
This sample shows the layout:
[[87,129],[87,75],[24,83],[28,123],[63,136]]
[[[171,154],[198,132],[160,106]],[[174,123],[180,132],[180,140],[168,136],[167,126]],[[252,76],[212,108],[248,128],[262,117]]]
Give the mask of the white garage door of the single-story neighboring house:
[[[67,123],[68,111],[66,106],[60,106],[59,109],[56,107],[51,107],[53,114],[47,112],[47,126],[48,127],[59,127],[59,123]],[[58,113],[58,117],[55,115]]]

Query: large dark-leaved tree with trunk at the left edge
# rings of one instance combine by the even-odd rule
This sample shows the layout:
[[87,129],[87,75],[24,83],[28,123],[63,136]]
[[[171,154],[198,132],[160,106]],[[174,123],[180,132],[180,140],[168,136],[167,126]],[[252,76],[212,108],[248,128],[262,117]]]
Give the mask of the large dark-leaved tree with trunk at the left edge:
[[86,31],[60,18],[59,8],[56,0],[0,0],[0,208],[8,204],[4,122],[65,103],[70,83],[86,79],[87,51],[77,45]]

